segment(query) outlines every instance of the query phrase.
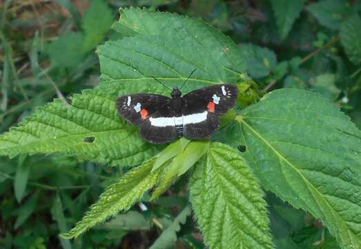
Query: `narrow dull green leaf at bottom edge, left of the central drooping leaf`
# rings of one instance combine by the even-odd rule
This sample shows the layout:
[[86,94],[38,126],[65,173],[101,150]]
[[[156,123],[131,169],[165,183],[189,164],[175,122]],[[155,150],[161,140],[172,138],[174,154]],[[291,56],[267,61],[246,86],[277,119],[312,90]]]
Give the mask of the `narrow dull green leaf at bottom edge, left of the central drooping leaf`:
[[191,209],[186,206],[186,208],[178,214],[177,218],[174,219],[173,223],[171,223],[153,245],[150,246],[150,249],[173,248],[175,241],[177,241],[177,232],[180,230],[180,224],[186,223],[186,218],[189,215],[191,215]]

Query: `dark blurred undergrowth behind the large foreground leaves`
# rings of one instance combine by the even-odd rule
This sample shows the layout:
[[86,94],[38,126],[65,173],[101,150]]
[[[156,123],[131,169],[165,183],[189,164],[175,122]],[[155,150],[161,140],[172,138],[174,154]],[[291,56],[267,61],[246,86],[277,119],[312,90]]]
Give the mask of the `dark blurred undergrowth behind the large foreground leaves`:
[[[239,44],[257,91],[311,89],[361,127],[359,1],[6,0],[0,3],[1,133],[53,98],[66,102],[97,85],[95,49],[119,39],[110,26],[126,6],[201,17]],[[148,248],[169,228],[179,248],[203,248],[184,209],[186,176],[157,201],[144,196],[146,211],[139,203],[71,243],[59,239],[127,170],[62,154],[1,157],[0,247]],[[269,192],[266,201],[277,248],[338,248],[310,214]]]

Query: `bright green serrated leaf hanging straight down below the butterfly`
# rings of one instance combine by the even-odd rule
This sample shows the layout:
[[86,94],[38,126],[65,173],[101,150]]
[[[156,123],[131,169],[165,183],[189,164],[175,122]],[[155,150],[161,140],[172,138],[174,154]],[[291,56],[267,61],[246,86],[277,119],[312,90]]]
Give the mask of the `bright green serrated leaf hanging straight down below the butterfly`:
[[209,248],[273,248],[264,193],[232,147],[211,144],[191,176],[190,194]]

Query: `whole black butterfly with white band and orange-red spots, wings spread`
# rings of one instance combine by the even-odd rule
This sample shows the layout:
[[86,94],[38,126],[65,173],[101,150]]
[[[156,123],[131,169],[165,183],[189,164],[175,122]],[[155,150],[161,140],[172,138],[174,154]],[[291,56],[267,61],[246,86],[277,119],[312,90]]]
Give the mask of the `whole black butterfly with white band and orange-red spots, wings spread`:
[[204,87],[184,97],[178,88],[170,93],[172,98],[135,93],[118,98],[117,110],[121,118],[139,125],[149,142],[160,144],[182,136],[204,139],[217,131],[218,116],[234,107],[237,94],[237,87],[231,84]]

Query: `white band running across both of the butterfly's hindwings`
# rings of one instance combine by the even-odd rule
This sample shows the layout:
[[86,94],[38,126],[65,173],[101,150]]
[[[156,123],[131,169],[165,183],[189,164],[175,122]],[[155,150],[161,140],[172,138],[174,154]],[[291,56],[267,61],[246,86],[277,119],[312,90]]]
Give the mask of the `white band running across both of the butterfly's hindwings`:
[[202,113],[194,113],[182,117],[170,117],[170,118],[149,118],[150,124],[155,127],[167,127],[173,126],[176,124],[195,124],[203,122],[207,119],[208,111]]

